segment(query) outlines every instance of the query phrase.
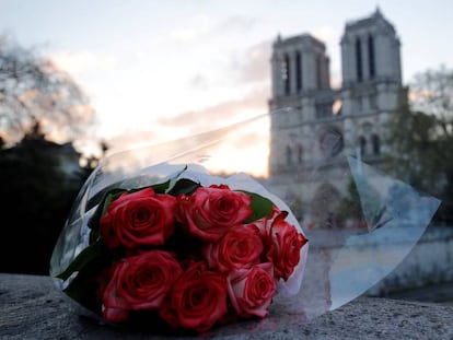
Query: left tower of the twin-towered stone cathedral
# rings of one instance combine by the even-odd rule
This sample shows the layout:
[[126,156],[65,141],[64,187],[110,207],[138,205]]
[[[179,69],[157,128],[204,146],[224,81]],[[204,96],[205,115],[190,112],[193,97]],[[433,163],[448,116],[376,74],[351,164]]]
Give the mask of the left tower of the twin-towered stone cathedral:
[[[306,124],[332,116],[329,59],[324,43],[309,34],[274,43],[270,173],[284,174],[311,157],[301,136]],[[274,133],[276,132],[276,134]]]

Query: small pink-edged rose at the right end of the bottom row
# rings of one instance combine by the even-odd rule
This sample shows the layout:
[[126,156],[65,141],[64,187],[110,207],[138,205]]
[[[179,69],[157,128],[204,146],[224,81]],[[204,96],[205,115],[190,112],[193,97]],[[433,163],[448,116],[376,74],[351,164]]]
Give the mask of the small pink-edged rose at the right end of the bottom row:
[[276,293],[272,263],[240,269],[230,275],[228,283],[230,301],[239,316],[263,318],[267,315]]

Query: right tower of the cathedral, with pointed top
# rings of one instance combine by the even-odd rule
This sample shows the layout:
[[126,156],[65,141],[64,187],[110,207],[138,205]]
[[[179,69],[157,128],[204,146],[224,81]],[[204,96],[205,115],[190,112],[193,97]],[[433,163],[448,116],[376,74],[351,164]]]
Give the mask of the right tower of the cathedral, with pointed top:
[[402,94],[400,44],[394,26],[376,11],[346,24],[341,37],[345,139],[349,152],[375,161],[385,149],[386,122]]

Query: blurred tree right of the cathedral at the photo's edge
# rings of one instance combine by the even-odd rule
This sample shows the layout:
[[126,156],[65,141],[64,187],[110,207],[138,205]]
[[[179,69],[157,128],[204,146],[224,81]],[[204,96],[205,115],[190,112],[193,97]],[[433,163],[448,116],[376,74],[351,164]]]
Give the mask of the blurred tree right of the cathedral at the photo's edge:
[[443,220],[453,222],[453,70],[419,73],[409,101],[390,122],[388,168],[418,190],[443,200]]

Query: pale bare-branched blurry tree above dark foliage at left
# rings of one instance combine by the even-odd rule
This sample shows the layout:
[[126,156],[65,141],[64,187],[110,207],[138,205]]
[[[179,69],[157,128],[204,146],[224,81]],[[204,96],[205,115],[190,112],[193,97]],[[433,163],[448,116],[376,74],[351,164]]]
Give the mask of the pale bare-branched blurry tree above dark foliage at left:
[[73,80],[49,59],[0,37],[0,136],[13,144],[39,120],[43,131],[74,140],[94,110]]

